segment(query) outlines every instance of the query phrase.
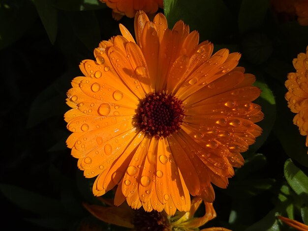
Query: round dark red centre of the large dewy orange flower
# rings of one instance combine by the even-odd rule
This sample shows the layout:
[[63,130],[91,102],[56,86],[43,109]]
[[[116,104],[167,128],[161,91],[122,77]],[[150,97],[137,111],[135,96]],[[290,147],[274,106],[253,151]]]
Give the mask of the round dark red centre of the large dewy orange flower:
[[164,92],[148,94],[139,104],[137,125],[150,136],[168,137],[184,119],[182,100]]

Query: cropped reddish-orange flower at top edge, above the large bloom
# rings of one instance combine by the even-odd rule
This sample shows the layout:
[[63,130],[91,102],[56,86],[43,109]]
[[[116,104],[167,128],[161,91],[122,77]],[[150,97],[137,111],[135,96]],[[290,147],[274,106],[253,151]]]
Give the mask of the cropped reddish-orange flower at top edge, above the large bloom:
[[120,20],[124,15],[133,18],[138,10],[154,14],[163,8],[163,0],[100,0],[112,9],[112,17]]

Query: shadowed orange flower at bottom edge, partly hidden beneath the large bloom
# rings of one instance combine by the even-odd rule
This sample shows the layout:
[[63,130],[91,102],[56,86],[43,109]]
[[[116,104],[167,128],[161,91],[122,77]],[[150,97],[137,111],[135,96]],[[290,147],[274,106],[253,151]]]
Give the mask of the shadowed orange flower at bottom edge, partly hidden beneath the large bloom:
[[[161,231],[192,231],[198,230],[216,217],[216,211],[212,203],[205,202],[205,214],[203,217],[194,217],[195,212],[202,203],[200,198],[194,198],[187,212],[177,211],[175,216],[168,216],[165,212],[145,212],[143,209],[132,210],[126,204],[120,207],[113,206],[112,202],[101,199],[109,206],[86,204],[85,208],[97,219],[117,226],[130,228],[138,231],[161,230]],[[230,231],[221,227],[211,227],[201,231]]]

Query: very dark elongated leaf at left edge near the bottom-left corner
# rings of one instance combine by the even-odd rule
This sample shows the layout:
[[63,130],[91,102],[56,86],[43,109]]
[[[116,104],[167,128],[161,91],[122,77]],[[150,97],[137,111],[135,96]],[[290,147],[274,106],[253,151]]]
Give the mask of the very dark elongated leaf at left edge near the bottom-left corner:
[[0,191],[12,203],[42,216],[65,216],[65,210],[60,201],[8,184],[0,184]]

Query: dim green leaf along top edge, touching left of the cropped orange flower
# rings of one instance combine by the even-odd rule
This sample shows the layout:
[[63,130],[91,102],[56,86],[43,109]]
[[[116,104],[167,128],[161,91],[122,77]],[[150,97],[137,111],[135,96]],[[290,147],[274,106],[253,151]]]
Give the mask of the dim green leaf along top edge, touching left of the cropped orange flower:
[[53,7],[67,11],[98,10],[107,7],[99,0],[49,0],[49,2]]

